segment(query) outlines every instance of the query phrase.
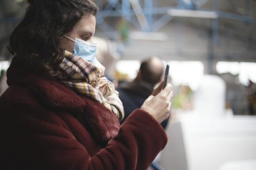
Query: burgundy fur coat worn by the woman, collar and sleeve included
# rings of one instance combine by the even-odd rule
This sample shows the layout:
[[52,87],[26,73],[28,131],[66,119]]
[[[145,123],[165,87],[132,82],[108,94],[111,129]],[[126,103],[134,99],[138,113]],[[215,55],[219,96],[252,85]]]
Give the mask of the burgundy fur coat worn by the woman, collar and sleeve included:
[[[167,137],[137,109],[120,127],[102,104],[12,62],[0,98],[1,162],[6,169],[147,169]],[[1,168],[2,169],[2,168]]]

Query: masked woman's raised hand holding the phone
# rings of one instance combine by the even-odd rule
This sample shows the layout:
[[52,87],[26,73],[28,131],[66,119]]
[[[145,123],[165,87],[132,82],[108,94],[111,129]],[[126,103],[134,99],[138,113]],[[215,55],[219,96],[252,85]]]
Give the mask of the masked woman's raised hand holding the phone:
[[[163,122],[163,120],[169,116],[171,106],[170,99],[172,99],[174,95],[171,84],[167,84],[166,87],[160,91],[159,89],[161,89],[162,86],[163,84],[161,83],[156,90],[154,90],[156,93],[153,92],[156,96],[149,96],[141,106],[142,110],[150,113],[159,123]],[[157,91],[160,92],[157,94]]]

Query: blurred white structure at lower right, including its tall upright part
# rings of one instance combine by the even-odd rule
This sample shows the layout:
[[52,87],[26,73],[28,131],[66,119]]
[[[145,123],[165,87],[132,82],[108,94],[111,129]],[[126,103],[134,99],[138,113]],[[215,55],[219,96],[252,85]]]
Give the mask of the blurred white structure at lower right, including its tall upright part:
[[160,160],[166,170],[226,170],[230,161],[256,160],[256,116],[225,115],[224,94],[223,81],[206,76],[196,110],[173,116]]

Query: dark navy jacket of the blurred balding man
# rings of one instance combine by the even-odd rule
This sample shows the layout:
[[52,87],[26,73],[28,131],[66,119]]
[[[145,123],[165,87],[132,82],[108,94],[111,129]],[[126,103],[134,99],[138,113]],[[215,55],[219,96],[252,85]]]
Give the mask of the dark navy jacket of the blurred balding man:
[[[124,119],[121,122],[123,123],[135,109],[139,109],[142,106],[148,96],[154,91],[154,87],[146,82],[134,80],[133,82],[121,84],[117,91],[123,103]],[[168,121],[169,119],[167,118],[161,123],[164,129]]]

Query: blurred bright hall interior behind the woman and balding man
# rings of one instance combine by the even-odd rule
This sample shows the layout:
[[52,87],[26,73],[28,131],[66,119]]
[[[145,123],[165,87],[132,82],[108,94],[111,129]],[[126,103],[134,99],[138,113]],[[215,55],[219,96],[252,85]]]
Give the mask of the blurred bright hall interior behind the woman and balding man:
[[[133,81],[148,57],[170,65],[175,96],[159,169],[256,169],[256,1],[94,2],[96,58],[116,88]],[[27,7],[25,0],[0,0],[3,74]]]

